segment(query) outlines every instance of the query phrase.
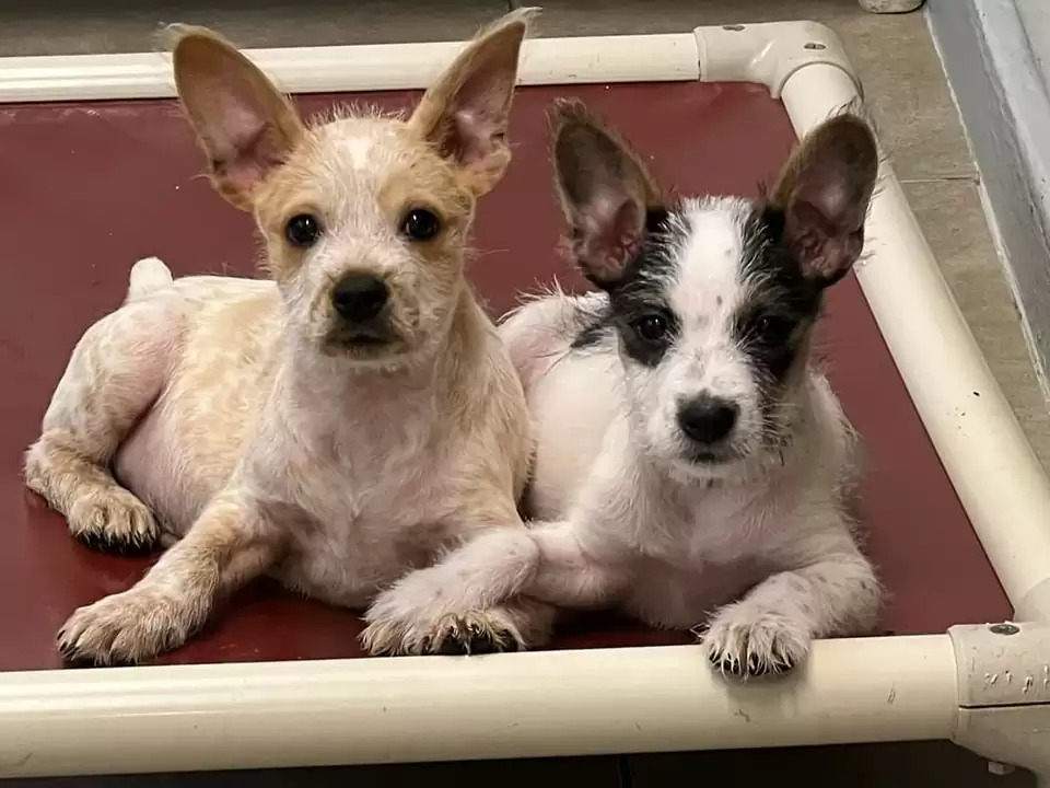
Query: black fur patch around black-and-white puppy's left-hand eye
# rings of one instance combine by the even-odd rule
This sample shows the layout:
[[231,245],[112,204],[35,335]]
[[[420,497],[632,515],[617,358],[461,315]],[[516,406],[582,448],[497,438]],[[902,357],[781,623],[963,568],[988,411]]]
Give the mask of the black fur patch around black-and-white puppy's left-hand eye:
[[[678,335],[678,316],[667,303],[667,282],[677,260],[670,254],[675,239],[673,223],[664,208],[651,209],[645,216],[645,234],[634,259],[616,282],[606,286],[609,294],[609,324],[616,329],[626,356],[644,367],[655,367]],[[656,317],[666,327],[658,339],[646,338],[639,326]]]

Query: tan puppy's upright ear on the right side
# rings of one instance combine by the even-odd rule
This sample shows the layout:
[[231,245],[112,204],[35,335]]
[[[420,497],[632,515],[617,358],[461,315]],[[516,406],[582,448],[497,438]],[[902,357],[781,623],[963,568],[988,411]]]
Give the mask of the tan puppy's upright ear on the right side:
[[409,120],[465,174],[477,196],[499,183],[511,161],[506,132],[518,56],[537,13],[520,9],[481,31],[430,86]]

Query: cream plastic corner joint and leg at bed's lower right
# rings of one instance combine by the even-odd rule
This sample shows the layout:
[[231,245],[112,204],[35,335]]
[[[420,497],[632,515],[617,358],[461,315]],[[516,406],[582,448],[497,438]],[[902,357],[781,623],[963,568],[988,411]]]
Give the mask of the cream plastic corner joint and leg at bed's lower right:
[[957,626],[948,635],[959,687],[953,740],[1050,788],[1050,624]]

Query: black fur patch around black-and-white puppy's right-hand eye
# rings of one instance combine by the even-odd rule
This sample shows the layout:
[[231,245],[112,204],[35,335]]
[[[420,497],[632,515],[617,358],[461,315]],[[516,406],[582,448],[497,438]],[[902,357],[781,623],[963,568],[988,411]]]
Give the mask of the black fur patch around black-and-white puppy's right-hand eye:
[[756,210],[744,233],[742,277],[751,298],[737,312],[734,339],[758,378],[762,409],[775,402],[800,352],[805,352],[820,314],[825,286],[803,276],[802,266],[783,243],[784,215]]

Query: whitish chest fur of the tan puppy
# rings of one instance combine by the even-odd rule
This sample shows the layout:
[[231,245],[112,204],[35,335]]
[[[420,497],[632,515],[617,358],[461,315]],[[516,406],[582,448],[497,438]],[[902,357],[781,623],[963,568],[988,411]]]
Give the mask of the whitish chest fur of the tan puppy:
[[[362,606],[450,538],[448,436],[429,386],[279,372],[244,471],[289,529],[275,570],[292,588]],[[452,438],[455,442],[455,438]]]

